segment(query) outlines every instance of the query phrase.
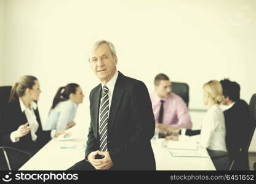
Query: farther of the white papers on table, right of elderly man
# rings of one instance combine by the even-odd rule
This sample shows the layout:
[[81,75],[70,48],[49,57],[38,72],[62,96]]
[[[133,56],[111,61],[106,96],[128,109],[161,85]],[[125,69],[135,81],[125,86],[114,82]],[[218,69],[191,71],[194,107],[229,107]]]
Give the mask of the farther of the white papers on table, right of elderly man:
[[172,150],[197,150],[198,144],[190,141],[168,140],[167,148]]

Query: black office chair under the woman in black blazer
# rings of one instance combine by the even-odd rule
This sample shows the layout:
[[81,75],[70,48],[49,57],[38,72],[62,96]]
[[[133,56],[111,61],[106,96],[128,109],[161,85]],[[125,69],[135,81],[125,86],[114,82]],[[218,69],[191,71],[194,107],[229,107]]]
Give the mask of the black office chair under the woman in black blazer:
[[[4,126],[2,114],[4,113],[4,107],[6,107],[9,101],[11,89],[12,86],[0,86],[0,126]],[[17,170],[31,158],[30,153],[16,148],[6,147],[1,142],[0,149],[2,150],[0,153],[0,170]]]

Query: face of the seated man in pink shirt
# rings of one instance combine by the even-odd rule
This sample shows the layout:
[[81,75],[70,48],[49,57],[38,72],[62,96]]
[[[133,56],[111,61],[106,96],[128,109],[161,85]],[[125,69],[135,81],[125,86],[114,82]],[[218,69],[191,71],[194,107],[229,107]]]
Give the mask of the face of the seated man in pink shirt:
[[160,80],[158,86],[154,86],[159,98],[167,98],[172,92],[172,83],[170,80]]

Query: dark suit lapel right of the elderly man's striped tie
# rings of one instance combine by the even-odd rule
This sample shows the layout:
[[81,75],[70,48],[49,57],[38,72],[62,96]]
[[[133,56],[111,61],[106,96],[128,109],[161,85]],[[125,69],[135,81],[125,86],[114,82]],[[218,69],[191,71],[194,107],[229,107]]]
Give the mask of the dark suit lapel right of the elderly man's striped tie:
[[116,114],[118,113],[119,105],[122,101],[122,94],[124,93],[124,89],[121,86],[122,77],[124,77],[124,75],[122,75],[121,72],[119,72],[118,79],[116,80],[116,84],[114,85],[114,93],[112,96],[110,115],[108,118],[108,135],[111,134],[111,130],[114,125],[114,120],[116,118]]

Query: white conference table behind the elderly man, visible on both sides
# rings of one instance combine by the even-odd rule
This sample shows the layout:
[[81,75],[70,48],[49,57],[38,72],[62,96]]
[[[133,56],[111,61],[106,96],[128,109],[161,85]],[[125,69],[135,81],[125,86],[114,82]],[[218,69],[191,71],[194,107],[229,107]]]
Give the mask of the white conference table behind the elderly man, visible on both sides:
[[[41,150],[28,160],[20,171],[66,170],[84,159],[85,139],[50,140]],[[156,159],[156,170],[215,170],[212,160],[204,157],[177,157],[162,147],[162,139],[151,141]],[[186,151],[186,150],[184,150]]]

